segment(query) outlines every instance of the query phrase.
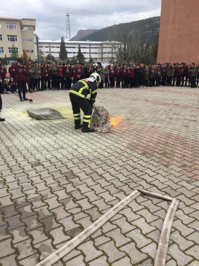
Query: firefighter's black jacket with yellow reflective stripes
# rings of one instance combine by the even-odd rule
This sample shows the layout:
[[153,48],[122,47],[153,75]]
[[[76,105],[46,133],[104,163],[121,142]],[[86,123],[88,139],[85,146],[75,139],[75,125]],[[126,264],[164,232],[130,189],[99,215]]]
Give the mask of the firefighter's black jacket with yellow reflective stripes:
[[82,99],[86,99],[87,95],[90,94],[90,102],[94,103],[97,96],[97,84],[89,80],[81,79],[74,83],[69,91],[69,95],[74,95]]

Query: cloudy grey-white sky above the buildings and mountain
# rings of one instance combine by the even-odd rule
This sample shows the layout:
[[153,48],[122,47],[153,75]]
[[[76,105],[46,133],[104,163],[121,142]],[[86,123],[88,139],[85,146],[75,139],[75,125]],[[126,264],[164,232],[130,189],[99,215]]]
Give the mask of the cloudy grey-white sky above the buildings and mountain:
[[66,12],[72,38],[78,30],[160,16],[160,9],[161,0],[4,0],[0,16],[35,18],[40,40],[59,40],[66,36]]

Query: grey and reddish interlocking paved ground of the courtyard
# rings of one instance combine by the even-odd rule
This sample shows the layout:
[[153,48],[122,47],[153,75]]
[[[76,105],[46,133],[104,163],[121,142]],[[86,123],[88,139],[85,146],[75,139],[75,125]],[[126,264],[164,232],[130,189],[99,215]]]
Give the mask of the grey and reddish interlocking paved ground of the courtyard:
[[[199,89],[99,90],[126,116],[106,134],[73,129],[66,91],[31,97],[2,96],[0,265],[35,265],[136,188],[179,199],[166,265],[199,265]],[[36,121],[30,106],[66,119]],[[153,265],[168,206],[137,197],[56,265]]]

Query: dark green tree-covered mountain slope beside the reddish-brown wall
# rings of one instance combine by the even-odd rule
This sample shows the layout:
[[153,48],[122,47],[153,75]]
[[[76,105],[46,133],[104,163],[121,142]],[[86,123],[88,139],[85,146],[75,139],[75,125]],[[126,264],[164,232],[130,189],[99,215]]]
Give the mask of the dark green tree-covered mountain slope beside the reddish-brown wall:
[[[155,36],[159,35],[160,29],[160,17],[150,17],[142,20],[131,21],[128,23],[120,23],[118,25],[113,25],[105,27],[100,30],[95,30],[94,32],[78,38],[79,41],[124,41],[124,36],[126,34],[139,35],[141,38],[141,43],[145,44],[147,41],[152,43]],[[79,32],[79,31],[78,31]]]

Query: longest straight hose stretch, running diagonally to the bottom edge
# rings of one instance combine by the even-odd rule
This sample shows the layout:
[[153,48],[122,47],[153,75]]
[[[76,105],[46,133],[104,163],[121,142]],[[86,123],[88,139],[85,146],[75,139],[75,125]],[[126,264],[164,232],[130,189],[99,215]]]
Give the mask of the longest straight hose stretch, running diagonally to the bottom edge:
[[97,221],[95,221],[92,225],[84,229],[79,235],[74,237],[72,240],[68,241],[67,244],[62,246],[60,249],[55,251],[53,254],[49,255],[46,259],[39,262],[36,266],[51,266],[63,256],[68,254],[72,249],[76,246],[80,245],[82,241],[92,235],[97,229],[103,226],[107,221],[110,220],[118,211],[121,211],[128,203],[130,203],[133,199],[139,196],[141,192],[135,190],[130,195],[125,197],[122,201],[118,202],[114,207],[112,207],[109,211],[107,211],[103,216],[101,216]]

